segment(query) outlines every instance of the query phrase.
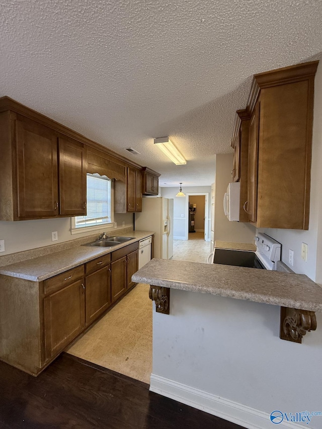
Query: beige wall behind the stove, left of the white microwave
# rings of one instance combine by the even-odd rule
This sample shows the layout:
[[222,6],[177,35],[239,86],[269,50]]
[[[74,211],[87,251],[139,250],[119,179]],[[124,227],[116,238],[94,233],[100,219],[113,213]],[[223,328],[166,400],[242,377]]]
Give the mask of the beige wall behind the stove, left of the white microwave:
[[255,227],[249,223],[230,222],[223,211],[223,196],[232,181],[233,153],[216,155],[214,240],[253,243]]

